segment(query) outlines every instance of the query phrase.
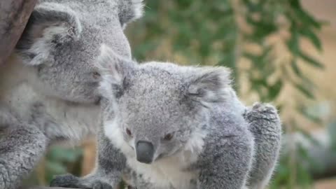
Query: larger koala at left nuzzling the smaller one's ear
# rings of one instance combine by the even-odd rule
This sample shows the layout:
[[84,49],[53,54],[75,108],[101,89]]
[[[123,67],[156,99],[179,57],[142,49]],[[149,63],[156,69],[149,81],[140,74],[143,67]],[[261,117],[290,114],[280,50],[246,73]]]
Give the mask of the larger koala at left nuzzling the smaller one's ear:
[[131,58],[123,33],[140,0],[41,0],[15,52],[0,69],[0,188],[10,189],[57,141],[79,141],[99,126],[95,62],[102,43]]

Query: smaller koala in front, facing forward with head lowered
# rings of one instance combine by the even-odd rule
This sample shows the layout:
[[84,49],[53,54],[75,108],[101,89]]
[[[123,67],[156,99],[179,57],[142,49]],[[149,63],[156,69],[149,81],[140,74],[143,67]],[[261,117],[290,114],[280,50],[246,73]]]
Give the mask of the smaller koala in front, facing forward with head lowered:
[[242,104],[225,67],[123,59],[104,45],[94,172],[50,186],[137,189],[264,188],[279,158],[274,106]]

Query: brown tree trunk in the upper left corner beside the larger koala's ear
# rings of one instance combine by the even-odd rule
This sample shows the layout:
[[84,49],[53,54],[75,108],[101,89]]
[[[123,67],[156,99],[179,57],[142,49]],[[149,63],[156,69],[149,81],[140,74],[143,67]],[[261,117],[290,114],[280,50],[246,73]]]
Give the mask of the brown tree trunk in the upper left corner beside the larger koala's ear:
[[0,0],[0,64],[4,64],[25,29],[37,0]]

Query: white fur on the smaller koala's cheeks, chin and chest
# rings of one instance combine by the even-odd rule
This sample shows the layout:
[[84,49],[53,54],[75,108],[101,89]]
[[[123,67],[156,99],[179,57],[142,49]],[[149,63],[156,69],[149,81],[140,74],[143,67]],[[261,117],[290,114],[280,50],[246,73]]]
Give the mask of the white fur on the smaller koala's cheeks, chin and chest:
[[197,180],[197,171],[187,168],[197,161],[198,155],[204,146],[205,132],[194,132],[183,150],[169,158],[162,158],[151,165],[138,162],[135,152],[123,139],[123,133],[116,120],[104,124],[104,132],[111,143],[120,148],[127,157],[127,164],[132,170],[141,174],[145,182],[153,184],[154,188],[164,189],[189,189],[193,188],[192,180]]

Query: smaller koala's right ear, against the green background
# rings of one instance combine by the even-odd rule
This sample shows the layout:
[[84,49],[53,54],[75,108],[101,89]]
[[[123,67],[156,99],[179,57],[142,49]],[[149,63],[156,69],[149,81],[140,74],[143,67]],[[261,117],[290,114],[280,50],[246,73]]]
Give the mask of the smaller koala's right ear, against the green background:
[[209,103],[223,102],[228,97],[230,70],[225,67],[197,68],[190,77],[187,96],[203,106]]

